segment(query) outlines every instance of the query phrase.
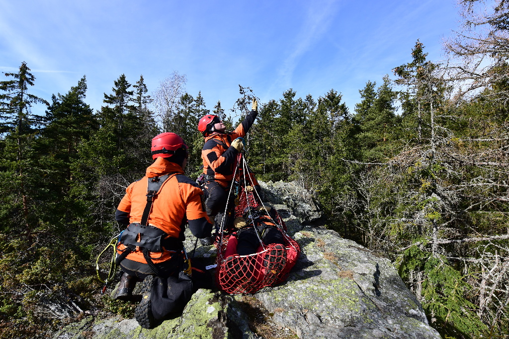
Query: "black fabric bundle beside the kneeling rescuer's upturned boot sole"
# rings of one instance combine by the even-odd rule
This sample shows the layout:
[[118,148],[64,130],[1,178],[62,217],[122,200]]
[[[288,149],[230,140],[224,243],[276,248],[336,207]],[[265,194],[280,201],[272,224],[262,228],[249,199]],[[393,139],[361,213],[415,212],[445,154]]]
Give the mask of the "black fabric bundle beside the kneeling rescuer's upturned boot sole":
[[152,315],[160,320],[169,314],[182,312],[193,293],[191,278],[182,271],[178,276],[168,278],[154,276],[150,291]]

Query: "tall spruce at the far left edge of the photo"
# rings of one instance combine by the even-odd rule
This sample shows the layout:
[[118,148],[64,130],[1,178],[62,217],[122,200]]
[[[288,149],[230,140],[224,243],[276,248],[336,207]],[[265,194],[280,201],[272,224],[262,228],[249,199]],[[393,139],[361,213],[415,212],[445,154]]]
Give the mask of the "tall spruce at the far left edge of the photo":
[[[3,217],[2,230],[17,229],[27,241],[32,241],[33,232],[41,225],[36,206],[41,175],[34,150],[37,127],[42,126],[42,117],[31,112],[36,103],[47,102],[29,93],[35,77],[23,61],[17,73],[5,73],[14,80],[0,81],[0,129],[6,133],[3,140],[3,164],[0,165],[0,188]],[[20,229],[19,229],[20,228]]]

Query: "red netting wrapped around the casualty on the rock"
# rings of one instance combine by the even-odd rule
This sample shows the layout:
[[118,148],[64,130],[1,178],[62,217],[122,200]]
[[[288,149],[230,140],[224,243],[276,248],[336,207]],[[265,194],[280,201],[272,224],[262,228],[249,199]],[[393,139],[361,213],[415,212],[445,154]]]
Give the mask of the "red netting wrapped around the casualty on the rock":
[[[241,191],[238,205],[235,207],[235,217],[240,217],[249,205],[254,208],[261,205],[258,195],[252,192],[245,194]],[[261,193],[261,192],[259,192]],[[285,222],[277,211],[274,222],[285,238],[285,245],[260,245],[257,253],[247,256],[237,254],[237,238],[235,230],[224,230],[219,238],[217,255],[216,279],[222,290],[228,293],[254,293],[266,286],[273,286],[287,279],[290,270],[295,265],[300,248],[297,242],[286,233]]]

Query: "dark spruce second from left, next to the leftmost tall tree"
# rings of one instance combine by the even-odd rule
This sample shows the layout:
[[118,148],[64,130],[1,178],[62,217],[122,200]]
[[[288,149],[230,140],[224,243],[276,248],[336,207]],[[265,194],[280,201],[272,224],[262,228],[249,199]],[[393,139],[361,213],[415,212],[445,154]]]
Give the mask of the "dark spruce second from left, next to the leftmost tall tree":
[[40,177],[40,183],[46,192],[42,204],[49,217],[47,221],[51,231],[60,229],[59,235],[71,242],[74,242],[71,235],[76,233],[69,231],[70,225],[79,226],[71,227],[72,230],[83,229],[80,223],[87,217],[73,166],[79,159],[81,143],[89,140],[99,127],[92,108],[84,102],[86,91],[86,77],[83,76],[66,95],[52,96],[46,111],[46,128],[37,147],[39,163],[46,173]]

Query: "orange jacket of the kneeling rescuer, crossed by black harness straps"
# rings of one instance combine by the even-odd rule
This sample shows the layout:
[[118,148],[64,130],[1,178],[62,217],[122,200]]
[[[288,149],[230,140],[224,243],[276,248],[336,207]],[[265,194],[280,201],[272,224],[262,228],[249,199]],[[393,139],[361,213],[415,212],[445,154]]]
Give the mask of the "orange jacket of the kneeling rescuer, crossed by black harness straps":
[[[203,191],[196,182],[183,175],[182,167],[166,161],[164,158],[157,158],[147,168],[146,175],[142,179],[127,187],[126,195],[120,201],[117,209],[129,214],[130,223],[140,223],[147,204],[148,178],[174,172],[178,172],[178,174],[162,184],[159,194],[152,204],[147,223],[161,229],[168,237],[184,240],[184,226],[188,221],[191,232],[195,236],[203,238],[209,235],[212,230],[212,224],[202,207]],[[119,249],[124,250],[125,246],[120,244]],[[165,249],[160,257],[152,255],[153,262],[168,260],[174,251],[175,249]],[[129,254],[127,258],[146,263],[143,253],[138,249]]]

